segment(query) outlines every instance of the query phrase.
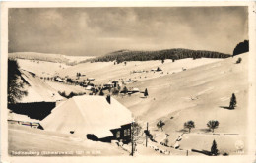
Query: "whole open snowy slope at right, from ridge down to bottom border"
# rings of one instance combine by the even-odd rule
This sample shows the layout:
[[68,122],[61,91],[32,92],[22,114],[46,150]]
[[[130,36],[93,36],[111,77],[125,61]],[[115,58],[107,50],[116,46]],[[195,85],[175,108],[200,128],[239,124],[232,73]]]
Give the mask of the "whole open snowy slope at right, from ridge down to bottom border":
[[[235,64],[238,57],[242,62]],[[246,143],[247,63],[248,54],[242,54],[158,79],[138,81],[129,86],[141,90],[147,88],[149,97],[140,98],[143,94],[137,94],[118,100],[143,122],[149,122],[151,131],[156,130],[158,120],[162,120],[165,123],[163,132],[157,133],[168,134],[170,143],[182,134],[183,124],[193,120],[195,129],[186,135],[189,140],[181,141],[181,148],[210,150],[216,139],[220,152],[238,154],[235,143]],[[236,95],[237,107],[235,110],[224,109],[229,106],[232,93]],[[215,134],[221,136],[206,135],[211,135],[206,125],[209,120],[220,122]]]

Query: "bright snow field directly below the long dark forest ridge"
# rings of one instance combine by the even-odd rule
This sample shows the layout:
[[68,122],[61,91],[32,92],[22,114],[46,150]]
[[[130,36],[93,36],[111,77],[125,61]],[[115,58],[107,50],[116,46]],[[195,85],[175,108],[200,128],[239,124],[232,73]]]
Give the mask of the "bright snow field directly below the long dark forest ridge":
[[[83,63],[76,66],[70,67],[68,71],[59,70],[58,74],[61,77],[69,76],[76,77],[77,73],[86,75],[80,78],[83,81],[87,78],[94,78],[94,83],[101,84],[107,83],[108,81],[114,80],[129,80],[132,81],[145,81],[149,79],[159,78],[161,76],[169,75],[172,73],[178,73],[184,69],[191,69],[201,65],[215,63],[223,59],[197,59],[193,60],[191,58],[177,60],[172,62],[171,60],[165,60],[164,64],[161,61],[132,61],[114,65],[114,62],[95,62],[95,63]],[[154,72],[152,69],[157,69],[160,67],[162,72]],[[139,72],[141,73],[134,73]]]

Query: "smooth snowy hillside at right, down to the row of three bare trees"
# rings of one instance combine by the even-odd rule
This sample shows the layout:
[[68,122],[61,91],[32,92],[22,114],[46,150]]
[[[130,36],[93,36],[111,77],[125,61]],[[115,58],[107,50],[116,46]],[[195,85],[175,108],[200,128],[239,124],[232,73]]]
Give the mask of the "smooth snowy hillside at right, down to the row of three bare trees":
[[[238,57],[242,62],[235,64]],[[143,95],[140,94],[119,98],[119,101],[143,120],[164,118],[170,124],[166,127],[176,130],[182,129],[187,119],[196,121],[199,129],[205,128],[207,120],[219,119],[222,124],[219,131],[243,133],[248,95],[247,63],[248,54],[243,54],[157,79],[138,81],[129,86],[147,88],[149,97],[140,98]],[[232,93],[237,97],[238,107],[235,110],[222,108],[229,106]],[[170,117],[174,118],[170,120]]]

